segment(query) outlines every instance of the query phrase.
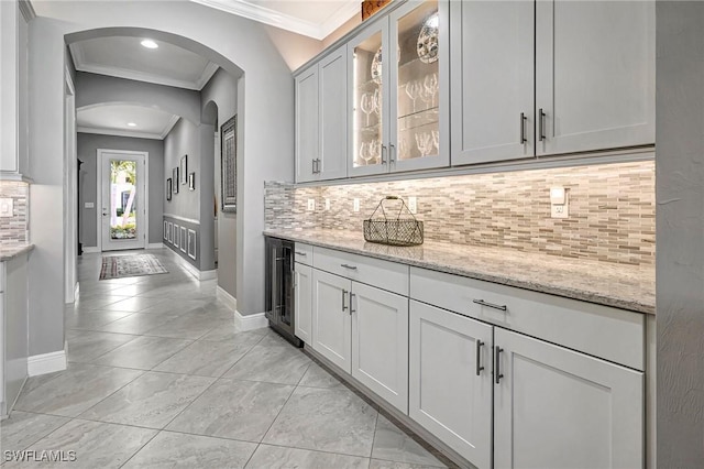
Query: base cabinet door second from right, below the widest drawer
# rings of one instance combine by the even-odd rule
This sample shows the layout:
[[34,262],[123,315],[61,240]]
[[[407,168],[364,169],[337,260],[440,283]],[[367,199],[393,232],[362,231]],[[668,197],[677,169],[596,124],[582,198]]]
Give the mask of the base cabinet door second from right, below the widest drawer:
[[492,459],[492,326],[410,302],[409,416],[477,468]]

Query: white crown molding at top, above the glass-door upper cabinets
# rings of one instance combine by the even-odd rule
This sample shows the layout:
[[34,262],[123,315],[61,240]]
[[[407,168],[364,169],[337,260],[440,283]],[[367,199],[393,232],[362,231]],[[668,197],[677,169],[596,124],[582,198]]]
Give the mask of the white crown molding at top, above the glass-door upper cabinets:
[[344,4],[323,24],[317,24],[266,7],[260,7],[258,4],[250,3],[244,0],[191,1],[220,11],[237,14],[238,17],[246,18],[249,20],[258,21],[260,23],[276,26],[282,30],[312,37],[318,41],[326,39],[331,32],[349,21],[354,13],[359,13],[361,11],[361,6],[358,0],[346,0]]

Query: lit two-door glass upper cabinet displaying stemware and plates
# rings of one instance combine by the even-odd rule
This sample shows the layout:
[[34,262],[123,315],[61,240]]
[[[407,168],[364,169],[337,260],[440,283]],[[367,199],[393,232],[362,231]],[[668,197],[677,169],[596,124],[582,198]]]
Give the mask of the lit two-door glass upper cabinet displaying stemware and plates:
[[449,165],[448,10],[407,2],[349,44],[349,175]]

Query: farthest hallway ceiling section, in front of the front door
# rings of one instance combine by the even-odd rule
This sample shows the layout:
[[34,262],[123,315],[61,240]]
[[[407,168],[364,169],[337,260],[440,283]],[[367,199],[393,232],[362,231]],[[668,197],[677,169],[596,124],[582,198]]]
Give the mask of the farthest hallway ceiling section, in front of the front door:
[[[178,116],[161,109],[136,105],[102,105],[78,109],[78,132],[109,135],[164,139],[178,121]],[[135,127],[128,126],[135,123]]]

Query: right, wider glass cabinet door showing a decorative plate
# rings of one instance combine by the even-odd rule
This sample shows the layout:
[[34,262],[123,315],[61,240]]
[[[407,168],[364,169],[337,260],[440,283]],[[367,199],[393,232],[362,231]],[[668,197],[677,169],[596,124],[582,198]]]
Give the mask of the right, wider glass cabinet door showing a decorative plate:
[[447,166],[447,2],[408,2],[392,13],[391,36],[392,171]]

